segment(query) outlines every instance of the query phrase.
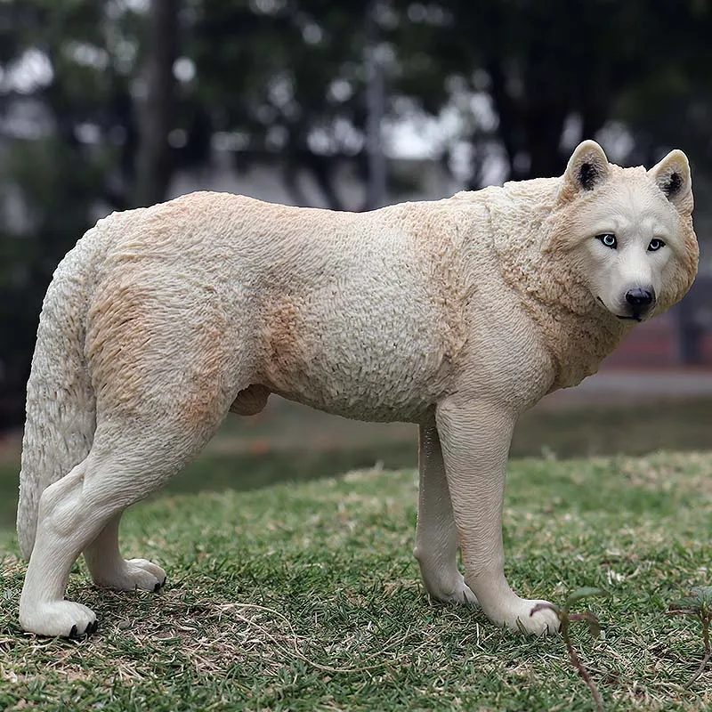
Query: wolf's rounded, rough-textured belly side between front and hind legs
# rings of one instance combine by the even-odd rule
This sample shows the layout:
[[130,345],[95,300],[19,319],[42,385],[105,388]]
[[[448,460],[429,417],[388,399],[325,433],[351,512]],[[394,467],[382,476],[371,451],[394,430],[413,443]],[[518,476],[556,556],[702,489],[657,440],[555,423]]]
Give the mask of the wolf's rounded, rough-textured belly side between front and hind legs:
[[422,282],[402,284],[408,280],[381,272],[269,297],[260,383],[344,417],[419,420],[441,395],[457,344],[441,306]]

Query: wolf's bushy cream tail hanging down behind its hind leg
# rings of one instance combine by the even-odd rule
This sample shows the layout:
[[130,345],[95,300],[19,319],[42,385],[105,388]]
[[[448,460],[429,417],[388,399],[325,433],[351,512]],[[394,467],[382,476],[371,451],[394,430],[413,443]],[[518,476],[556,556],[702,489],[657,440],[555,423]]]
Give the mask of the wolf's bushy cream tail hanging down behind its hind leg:
[[17,511],[25,559],[35,546],[43,491],[80,463],[93,443],[96,399],[85,360],[85,325],[96,253],[94,230],[77,242],[54,272],[37,328]]

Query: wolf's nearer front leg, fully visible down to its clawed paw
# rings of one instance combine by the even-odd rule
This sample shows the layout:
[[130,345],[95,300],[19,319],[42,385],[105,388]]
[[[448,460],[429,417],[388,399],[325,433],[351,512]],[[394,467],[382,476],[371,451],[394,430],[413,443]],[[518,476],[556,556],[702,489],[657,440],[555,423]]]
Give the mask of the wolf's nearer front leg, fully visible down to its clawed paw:
[[465,582],[498,626],[554,633],[553,611],[515,595],[505,578],[502,506],[516,414],[487,401],[451,396],[436,412],[449,494],[465,563]]

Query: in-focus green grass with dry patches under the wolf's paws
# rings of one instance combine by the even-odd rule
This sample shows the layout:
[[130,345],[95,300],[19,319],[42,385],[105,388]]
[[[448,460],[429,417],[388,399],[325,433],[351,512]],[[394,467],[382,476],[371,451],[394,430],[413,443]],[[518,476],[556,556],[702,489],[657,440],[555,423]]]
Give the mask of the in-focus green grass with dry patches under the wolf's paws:
[[[573,629],[607,709],[712,708],[712,670],[684,689],[699,622],[665,615],[710,583],[710,471],[712,455],[695,453],[510,465],[513,587],[558,603],[577,587],[611,592],[586,603],[602,639]],[[144,503],[125,517],[125,554],[161,562],[168,586],[100,591],[78,565],[68,596],[101,621],[82,642],[20,632],[24,564],[6,534],[0,709],[594,709],[560,637],[428,601],[416,501],[408,469]]]

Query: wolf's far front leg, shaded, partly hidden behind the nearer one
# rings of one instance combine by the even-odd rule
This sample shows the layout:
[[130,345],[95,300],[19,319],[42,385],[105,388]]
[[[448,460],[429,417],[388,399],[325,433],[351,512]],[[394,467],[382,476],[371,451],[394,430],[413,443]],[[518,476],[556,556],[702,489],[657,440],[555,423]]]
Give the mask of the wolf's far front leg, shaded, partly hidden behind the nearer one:
[[476,604],[477,599],[457,570],[457,528],[452,516],[448,480],[434,419],[418,432],[416,555],[427,592],[440,601]]

